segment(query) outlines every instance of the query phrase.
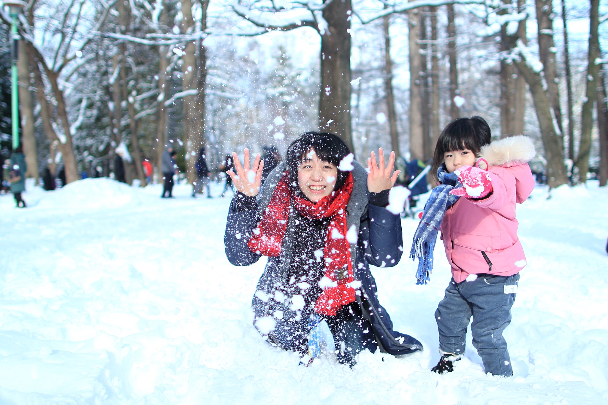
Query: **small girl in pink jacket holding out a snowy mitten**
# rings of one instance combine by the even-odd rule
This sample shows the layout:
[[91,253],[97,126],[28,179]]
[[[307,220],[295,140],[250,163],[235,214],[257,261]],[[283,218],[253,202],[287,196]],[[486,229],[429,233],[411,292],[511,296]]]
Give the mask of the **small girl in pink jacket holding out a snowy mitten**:
[[534,188],[527,162],[536,152],[522,135],[492,144],[490,138],[481,117],[458,118],[441,132],[433,162],[440,185],[424,207],[410,253],[420,257],[417,284],[426,284],[441,231],[452,280],[435,311],[441,359],[432,371],[440,374],[451,372],[465,352],[472,316],[473,345],[485,372],[513,375],[502,333],[526,265],[515,206]]

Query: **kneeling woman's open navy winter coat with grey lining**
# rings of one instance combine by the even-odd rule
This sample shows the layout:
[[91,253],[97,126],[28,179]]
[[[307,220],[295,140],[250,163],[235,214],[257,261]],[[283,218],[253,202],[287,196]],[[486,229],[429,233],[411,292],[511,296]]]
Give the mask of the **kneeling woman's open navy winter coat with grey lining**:
[[[354,225],[358,233],[356,243],[351,243],[351,259],[353,260],[354,279],[361,281],[361,294],[357,296],[363,317],[370,321],[376,341],[382,352],[392,355],[403,355],[423,348],[422,344],[412,336],[393,330],[393,322],[387,311],[378,301],[376,282],[371,275],[369,265],[392,267],[401,259],[402,234],[401,218],[387,211],[382,206],[369,204],[370,193],[367,190],[367,172],[361,165],[354,162],[353,192],[347,205],[347,226]],[[258,226],[261,213],[264,211],[275,185],[285,170],[285,163],[277,166],[264,182],[257,202],[250,202],[242,194],[233,198],[230,204],[224,245],[226,257],[233,265],[247,266],[254,264],[261,255],[252,252],[247,246],[252,230]],[[239,198],[247,200],[240,201]],[[292,254],[290,247],[294,238],[306,237],[290,229],[296,229],[294,220],[289,217],[288,231],[282,245],[279,257],[269,257],[264,273],[258,281],[257,289],[252,299],[255,319],[273,316],[280,310],[283,316],[296,316],[289,308],[292,294],[285,286],[294,285],[293,274],[290,273]],[[276,299],[277,286],[281,288],[280,298]],[[254,321],[255,323],[255,321]],[[272,333],[272,332],[271,332]],[[271,341],[272,341],[272,336]]]

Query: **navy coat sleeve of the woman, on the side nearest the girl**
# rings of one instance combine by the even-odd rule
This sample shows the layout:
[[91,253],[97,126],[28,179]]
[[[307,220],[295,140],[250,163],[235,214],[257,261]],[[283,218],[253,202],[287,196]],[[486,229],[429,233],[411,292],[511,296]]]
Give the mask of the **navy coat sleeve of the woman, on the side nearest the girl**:
[[401,217],[382,206],[368,205],[367,216],[362,217],[361,228],[368,226],[369,242],[365,247],[365,259],[378,267],[393,267],[403,253]]

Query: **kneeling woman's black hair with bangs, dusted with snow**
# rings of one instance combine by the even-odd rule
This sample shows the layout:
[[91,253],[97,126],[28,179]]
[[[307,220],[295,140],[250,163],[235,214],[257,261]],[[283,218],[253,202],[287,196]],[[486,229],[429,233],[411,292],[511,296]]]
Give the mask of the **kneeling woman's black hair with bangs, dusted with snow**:
[[[350,154],[350,149],[344,141],[335,134],[328,132],[306,132],[289,145],[286,154],[287,169],[289,171],[289,184],[297,188],[298,168],[308,152],[313,149],[317,157],[323,162],[339,166],[342,159]],[[338,169],[334,190],[344,185],[348,172]]]

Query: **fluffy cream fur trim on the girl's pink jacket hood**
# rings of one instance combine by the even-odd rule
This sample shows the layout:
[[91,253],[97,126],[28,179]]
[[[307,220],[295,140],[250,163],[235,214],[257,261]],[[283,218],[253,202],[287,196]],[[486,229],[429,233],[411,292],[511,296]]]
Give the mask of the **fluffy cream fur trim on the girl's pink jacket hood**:
[[533,141],[524,135],[503,138],[482,146],[479,157],[484,158],[490,167],[522,165],[536,156]]

